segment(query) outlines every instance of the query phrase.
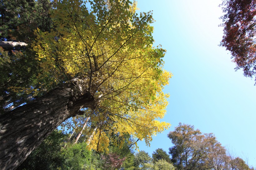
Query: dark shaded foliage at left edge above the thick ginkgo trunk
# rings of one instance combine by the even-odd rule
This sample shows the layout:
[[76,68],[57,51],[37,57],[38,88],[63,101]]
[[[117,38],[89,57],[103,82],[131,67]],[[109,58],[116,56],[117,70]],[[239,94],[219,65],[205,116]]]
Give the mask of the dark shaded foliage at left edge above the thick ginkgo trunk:
[[[52,19],[49,0],[2,0],[0,6],[0,40],[21,41],[26,47],[3,49],[0,47],[0,113],[6,106],[12,109],[55,87],[50,82],[51,74],[40,81],[42,69],[31,48],[34,30],[49,30]],[[40,89],[40,90],[39,90]],[[8,109],[7,109],[8,111]]]

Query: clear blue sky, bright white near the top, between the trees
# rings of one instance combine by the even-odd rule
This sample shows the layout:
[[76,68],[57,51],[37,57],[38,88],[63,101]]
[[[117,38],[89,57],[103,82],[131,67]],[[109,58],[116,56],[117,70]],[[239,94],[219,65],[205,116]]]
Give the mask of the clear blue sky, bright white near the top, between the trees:
[[256,167],[256,86],[254,80],[235,72],[229,51],[219,47],[223,27],[221,0],[138,0],[139,11],[153,10],[155,46],[167,50],[165,69],[173,73],[165,92],[170,93],[163,121],[169,130],[153,138],[157,148],[168,152],[168,132],[179,122],[214,133],[219,142]]

